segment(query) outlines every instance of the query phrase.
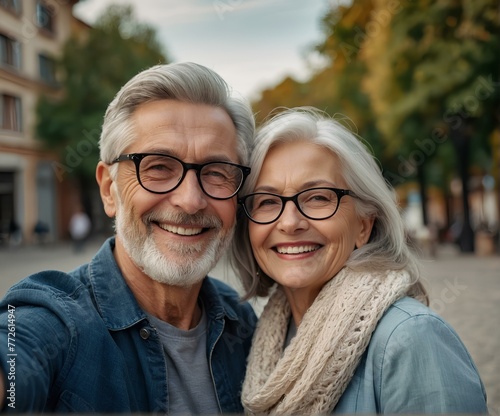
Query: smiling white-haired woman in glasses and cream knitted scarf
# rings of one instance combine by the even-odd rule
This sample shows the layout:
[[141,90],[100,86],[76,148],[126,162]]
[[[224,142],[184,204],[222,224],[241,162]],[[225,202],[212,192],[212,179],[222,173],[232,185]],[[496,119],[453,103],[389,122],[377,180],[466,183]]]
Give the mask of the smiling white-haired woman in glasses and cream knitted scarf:
[[251,169],[231,260],[247,297],[272,293],[245,410],[487,412],[470,355],[427,307],[394,192],[360,140],[317,110],[287,110],[260,128]]

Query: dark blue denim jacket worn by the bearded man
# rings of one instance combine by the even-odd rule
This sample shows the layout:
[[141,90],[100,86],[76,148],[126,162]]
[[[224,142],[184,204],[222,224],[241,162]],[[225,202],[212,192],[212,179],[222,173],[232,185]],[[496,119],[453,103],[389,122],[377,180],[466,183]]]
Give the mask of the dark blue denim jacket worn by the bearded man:
[[[6,410],[167,412],[162,344],[125,283],[113,247],[110,238],[89,264],[71,273],[34,274],[1,301],[1,362],[7,389],[15,383],[15,409],[8,392]],[[208,277],[200,297],[220,410],[242,412],[240,390],[255,314],[234,290]],[[9,317],[14,318],[10,327]],[[16,356],[7,356],[9,328],[15,330]]]

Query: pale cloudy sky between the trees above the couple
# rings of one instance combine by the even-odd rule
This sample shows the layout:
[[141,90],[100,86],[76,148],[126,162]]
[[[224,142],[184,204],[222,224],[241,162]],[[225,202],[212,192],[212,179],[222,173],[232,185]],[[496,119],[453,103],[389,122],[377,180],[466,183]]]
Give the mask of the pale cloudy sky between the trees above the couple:
[[316,63],[306,52],[321,39],[321,16],[335,1],[83,0],[74,14],[92,24],[109,4],[132,4],[171,61],[208,66],[254,99],[287,75],[307,77]]

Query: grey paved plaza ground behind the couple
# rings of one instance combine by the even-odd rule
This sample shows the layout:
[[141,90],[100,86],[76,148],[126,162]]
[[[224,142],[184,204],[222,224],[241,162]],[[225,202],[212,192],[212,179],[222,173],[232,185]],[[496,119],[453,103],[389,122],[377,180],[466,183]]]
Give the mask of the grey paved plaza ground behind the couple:
[[[0,296],[30,273],[43,269],[69,271],[86,262],[102,241],[95,239],[78,254],[69,243],[0,247]],[[431,307],[462,338],[486,386],[490,413],[500,415],[500,256],[463,255],[454,246],[440,246],[435,258],[425,260],[423,274]],[[236,285],[223,262],[212,275]]]

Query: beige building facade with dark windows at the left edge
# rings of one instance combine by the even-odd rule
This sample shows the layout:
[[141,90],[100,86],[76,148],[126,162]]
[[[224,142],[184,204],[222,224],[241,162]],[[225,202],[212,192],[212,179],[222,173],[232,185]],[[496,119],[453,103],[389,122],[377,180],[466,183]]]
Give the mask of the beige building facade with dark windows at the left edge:
[[57,98],[55,59],[72,33],[88,26],[73,16],[78,0],[0,0],[0,244],[63,238],[78,192],[54,172],[57,155],[36,138],[40,94]]

